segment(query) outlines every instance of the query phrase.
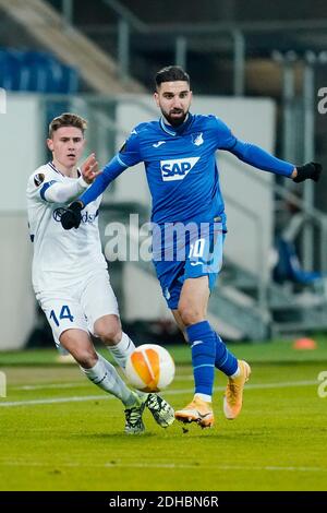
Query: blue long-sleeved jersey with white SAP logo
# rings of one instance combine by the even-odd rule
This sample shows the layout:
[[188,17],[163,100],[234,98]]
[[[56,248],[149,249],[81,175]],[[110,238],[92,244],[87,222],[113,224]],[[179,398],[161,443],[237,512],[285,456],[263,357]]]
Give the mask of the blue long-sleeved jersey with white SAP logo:
[[153,222],[213,220],[225,208],[217,150],[278,175],[290,177],[294,169],[292,164],[238,140],[217,117],[189,114],[179,128],[166,124],[162,118],[135,127],[81,201],[84,205],[94,201],[124,169],[143,162],[153,199]]

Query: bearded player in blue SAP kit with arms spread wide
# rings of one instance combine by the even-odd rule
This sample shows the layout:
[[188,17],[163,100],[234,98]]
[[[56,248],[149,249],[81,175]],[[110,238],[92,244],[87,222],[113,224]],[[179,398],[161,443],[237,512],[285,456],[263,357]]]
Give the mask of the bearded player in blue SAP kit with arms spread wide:
[[[156,74],[155,102],[161,118],[135,127],[93,186],[62,215],[61,223],[65,229],[77,228],[81,211],[128,167],[144,162],[153,198],[154,264],[167,305],[192,351],[195,394],[190,404],[175,411],[175,418],[206,428],[214,423],[215,368],[228,377],[223,411],[229,419],[241,411],[244,384],[251,373],[249,363],[227,349],[207,321],[226,232],[215,153],[228,151],[258,169],[295,182],[318,181],[322,166],[308,163],[295,167],[238,140],[219,118],[192,115],[191,99],[190,76],[183,69],[171,65],[160,70]],[[182,239],[174,237],[177,226],[187,227]]]

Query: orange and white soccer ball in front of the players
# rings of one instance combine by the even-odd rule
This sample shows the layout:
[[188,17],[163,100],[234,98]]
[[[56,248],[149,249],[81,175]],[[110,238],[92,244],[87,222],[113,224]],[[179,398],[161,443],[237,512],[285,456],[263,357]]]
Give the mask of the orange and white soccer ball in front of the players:
[[156,344],[143,344],[129,356],[125,374],[134,389],[159,392],[174,377],[174,362],[167,349]]

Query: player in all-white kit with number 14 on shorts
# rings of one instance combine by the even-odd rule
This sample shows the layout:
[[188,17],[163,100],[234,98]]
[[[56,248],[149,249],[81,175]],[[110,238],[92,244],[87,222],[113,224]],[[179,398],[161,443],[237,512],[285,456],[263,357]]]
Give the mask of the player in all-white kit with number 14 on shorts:
[[90,333],[100,337],[122,369],[135,348],[122,332],[117,299],[101,253],[98,231],[101,196],[89,203],[81,229],[64,231],[60,224],[63,206],[99,175],[94,154],[77,168],[85,146],[85,129],[86,121],[74,114],[55,118],[47,140],[52,162],[36,169],[28,180],[34,290],[57,347],[69,351],[93,383],[123,403],[125,432],[144,431],[145,407],[157,423],[166,428],[174,419],[171,406],[157,394],[130,390],[114,367],[96,351],[90,338]]

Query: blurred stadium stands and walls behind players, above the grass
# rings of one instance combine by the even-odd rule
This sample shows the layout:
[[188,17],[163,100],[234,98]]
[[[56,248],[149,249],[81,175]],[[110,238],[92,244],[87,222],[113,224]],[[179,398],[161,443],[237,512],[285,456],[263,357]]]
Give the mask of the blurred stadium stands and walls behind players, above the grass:
[[[0,115],[0,349],[51,338],[29,282],[25,186],[49,157],[45,138],[53,116],[72,110],[87,118],[88,150],[104,165],[135,123],[157,117],[149,94],[156,70],[179,63],[191,73],[194,111],[220,116],[238,136],[281,158],[314,158],[326,167],[326,121],[318,112],[318,92],[327,84],[325,3],[190,5],[0,0],[0,86],[7,93],[7,114]],[[326,176],[318,187],[299,187],[230,155],[219,158],[229,236],[210,301],[213,323],[230,341],[326,330]],[[130,213],[143,223],[148,212],[143,171],[125,172],[105,195],[104,247],[109,220],[129,226]],[[116,262],[110,274],[136,338],[177,339],[150,264]]]

